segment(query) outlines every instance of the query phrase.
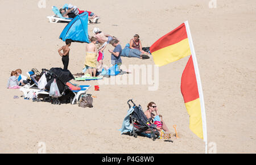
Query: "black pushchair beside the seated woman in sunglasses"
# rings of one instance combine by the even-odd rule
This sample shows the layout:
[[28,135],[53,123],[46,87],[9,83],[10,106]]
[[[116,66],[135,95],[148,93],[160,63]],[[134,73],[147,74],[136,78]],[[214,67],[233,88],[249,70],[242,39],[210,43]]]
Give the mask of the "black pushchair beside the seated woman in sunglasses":
[[155,141],[155,139],[158,139],[159,132],[156,130],[156,125],[149,125],[152,118],[147,119],[146,115],[144,115],[141,105],[135,105],[132,99],[127,101],[129,108],[131,108],[129,102],[133,103],[134,108],[134,111],[130,114],[130,124],[133,125],[133,132],[130,133],[130,136],[134,136],[135,138],[137,138],[138,134],[144,136],[143,134],[150,131],[150,138],[152,138],[153,141]]

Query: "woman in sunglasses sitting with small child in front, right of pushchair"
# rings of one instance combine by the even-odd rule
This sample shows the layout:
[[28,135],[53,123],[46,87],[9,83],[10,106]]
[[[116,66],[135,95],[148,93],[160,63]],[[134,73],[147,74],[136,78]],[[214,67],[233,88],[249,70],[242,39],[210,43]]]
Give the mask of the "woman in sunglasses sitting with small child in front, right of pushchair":
[[[155,112],[156,114],[154,114],[153,112]],[[151,123],[157,125],[156,129],[158,131],[164,130],[165,132],[170,133],[170,130],[167,128],[166,124],[162,119],[162,115],[159,115],[158,108],[156,107],[156,104],[154,102],[148,103],[147,111],[145,111],[144,114],[146,115],[147,119],[152,118],[154,120],[154,122]]]

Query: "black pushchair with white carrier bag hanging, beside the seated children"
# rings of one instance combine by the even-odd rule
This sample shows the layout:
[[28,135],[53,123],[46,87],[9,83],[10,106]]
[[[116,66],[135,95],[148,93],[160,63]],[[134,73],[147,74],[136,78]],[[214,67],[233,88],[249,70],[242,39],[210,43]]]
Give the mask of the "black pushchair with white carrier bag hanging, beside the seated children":
[[51,87],[51,83],[56,79],[57,87],[59,88],[61,96],[59,98],[52,98],[48,94],[38,94],[38,99],[40,101],[50,102],[52,104],[60,104],[60,103],[71,103],[75,94],[70,90],[70,88],[66,85],[68,81],[74,79],[73,75],[69,70],[63,70],[58,67],[53,67],[50,70],[42,69],[42,73],[46,74],[47,84],[46,90],[49,90]]

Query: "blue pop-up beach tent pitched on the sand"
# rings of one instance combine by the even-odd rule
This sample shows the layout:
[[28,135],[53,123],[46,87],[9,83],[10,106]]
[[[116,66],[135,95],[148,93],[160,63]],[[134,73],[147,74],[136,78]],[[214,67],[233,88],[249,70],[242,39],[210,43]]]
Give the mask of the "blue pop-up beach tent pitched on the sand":
[[61,32],[60,39],[63,41],[71,39],[80,43],[90,43],[88,36],[88,12],[83,12],[73,18]]

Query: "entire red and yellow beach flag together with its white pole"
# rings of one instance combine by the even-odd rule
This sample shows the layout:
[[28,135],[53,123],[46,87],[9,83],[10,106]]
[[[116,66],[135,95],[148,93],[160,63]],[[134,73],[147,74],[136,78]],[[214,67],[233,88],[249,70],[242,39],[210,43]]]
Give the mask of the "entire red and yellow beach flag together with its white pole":
[[156,41],[150,52],[155,65],[163,66],[190,56],[181,77],[181,93],[189,115],[189,128],[205,141],[207,153],[207,126],[204,107],[204,96],[201,79],[188,22],[184,22],[173,31]]

